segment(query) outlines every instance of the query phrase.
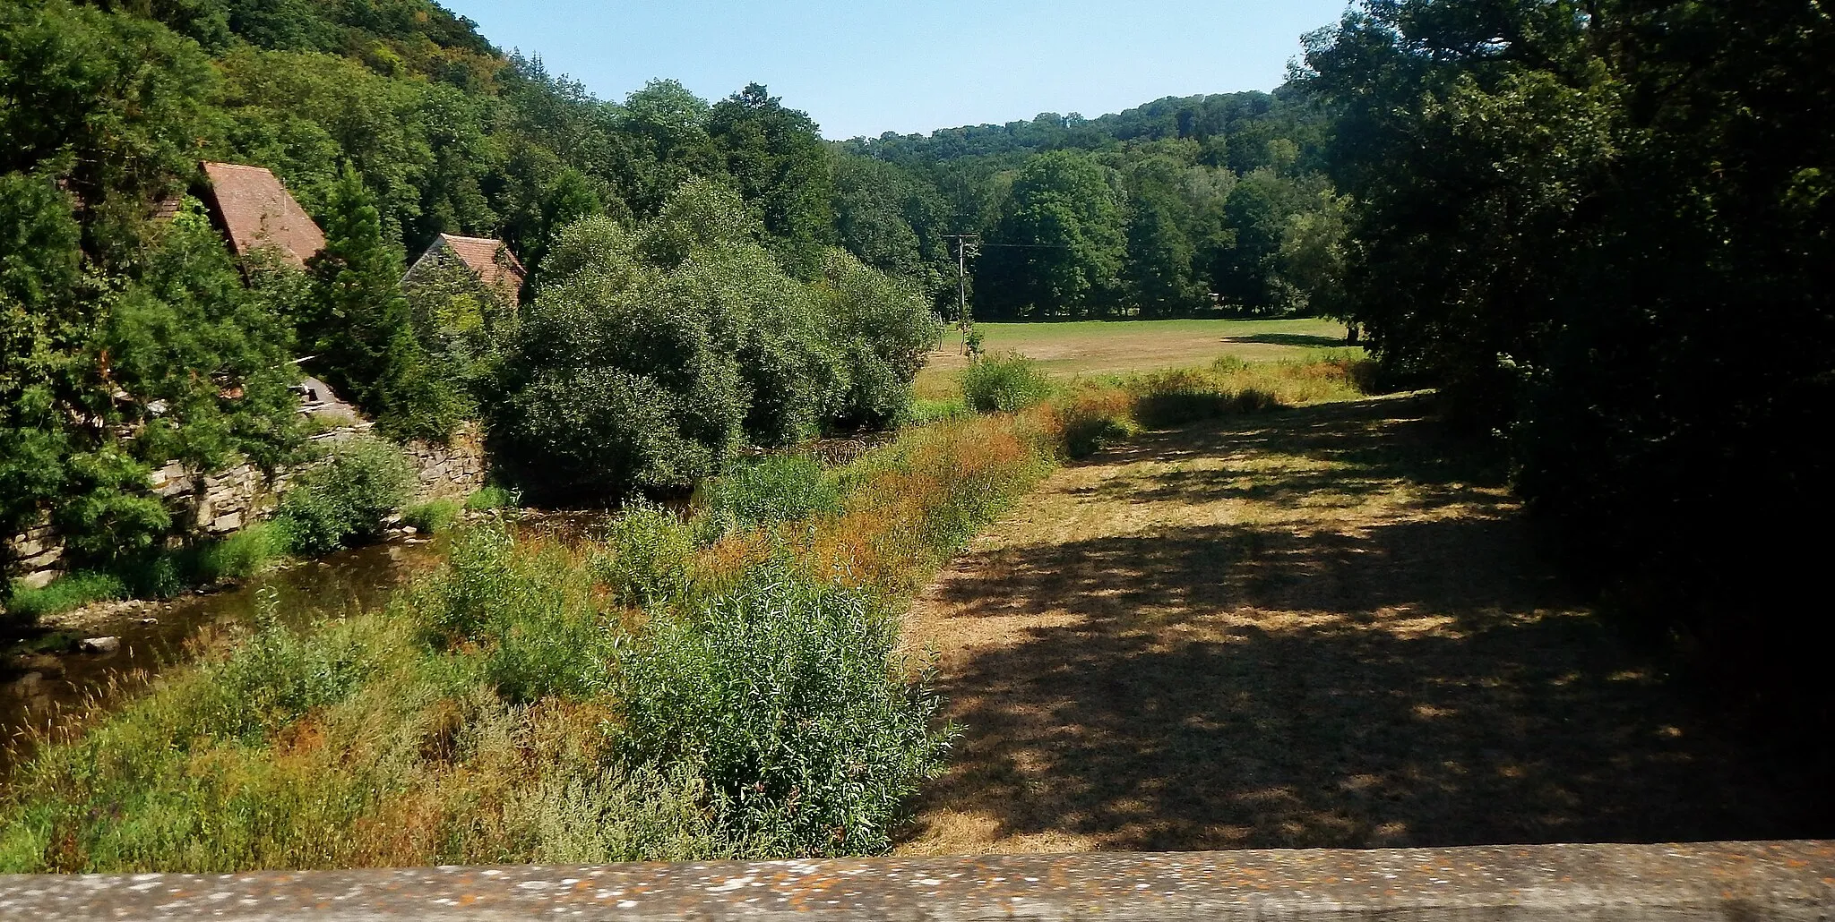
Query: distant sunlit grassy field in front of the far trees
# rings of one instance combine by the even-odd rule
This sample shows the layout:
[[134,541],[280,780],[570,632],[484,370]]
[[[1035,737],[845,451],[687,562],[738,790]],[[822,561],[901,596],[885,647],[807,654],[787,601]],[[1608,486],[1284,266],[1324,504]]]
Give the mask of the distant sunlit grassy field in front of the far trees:
[[[1308,350],[1345,345],[1345,324],[1318,317],[1299,321],[1079,321],[984,323],[987,352],[1018,352],[1048,372],[1123,374],[1209,365],[1220,356],[1244,361],[1299,359]],[[951,330],[943,348],[918,378],[918,394],[952,392],[954,374],[969,363],[962,335]]]

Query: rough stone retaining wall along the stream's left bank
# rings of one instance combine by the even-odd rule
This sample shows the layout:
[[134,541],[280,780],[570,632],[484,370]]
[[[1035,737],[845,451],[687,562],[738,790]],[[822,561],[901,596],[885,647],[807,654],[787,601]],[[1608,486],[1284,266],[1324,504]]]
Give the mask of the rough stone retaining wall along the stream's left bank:
[[[316,442],[338,442],[369,431],[369,425],[332,429]],[[462,427],[451,442],[439,445],[409,442],[402,445],[418,478],[415,500],[468,497],[488,473],[484,442],[475,425]],[[172,521],[193,535],[222,537],[244,524],[259,522],[273,513],[281,493],[292,482],[292,471],[268,477],[253,464],[242,464],[213,475],[196,475],[172,462],[152,473],[152,493],[167,502]],[[4,576],[42,587],[64,572],[64,541],[57,528],[42,517],[39,524],[6,539],[0,563]]]

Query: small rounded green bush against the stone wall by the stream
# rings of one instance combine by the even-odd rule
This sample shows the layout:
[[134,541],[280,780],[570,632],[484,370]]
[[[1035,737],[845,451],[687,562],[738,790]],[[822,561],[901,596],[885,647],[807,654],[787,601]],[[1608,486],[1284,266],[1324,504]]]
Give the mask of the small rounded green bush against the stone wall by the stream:
[[354,438],[308,467],[281,497],[275,528],[294,554],[321,555],[382,533],[382,522],[413,495],[415,473],[402,449]]

